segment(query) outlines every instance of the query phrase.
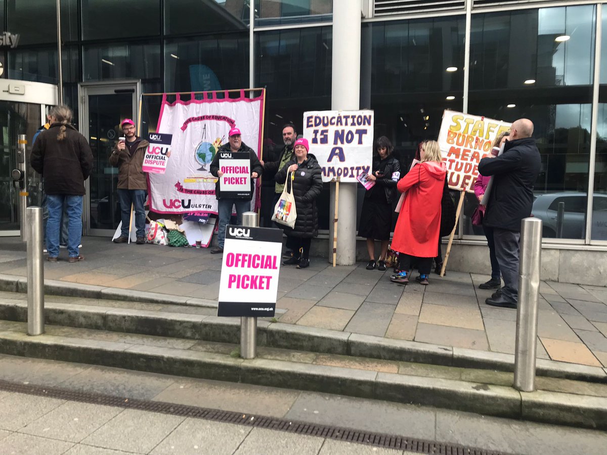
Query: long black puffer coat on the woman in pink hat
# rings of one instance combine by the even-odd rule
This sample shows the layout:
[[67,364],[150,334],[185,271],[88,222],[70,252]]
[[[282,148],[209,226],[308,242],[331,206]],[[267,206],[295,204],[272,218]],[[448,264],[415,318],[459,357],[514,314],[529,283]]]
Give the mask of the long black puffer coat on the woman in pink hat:
[[[297,158],[289,161],[276,173],[274,180],[277,183],[285,183],[287,180],[287,169],[291,164],[297,164]],[[316,161],[316,157],[308,153],[307,159],[298,165],[293,173],[293,180],[288,178],[287,190],[291,190],[293,184],[293,197],[295,198],[295,209],[297,218],[293,229],[283,227],[285,234],[291,237],[311,238],[318,234],[318,214],[316,211],[316,198],[322,191],[322,170]]]

